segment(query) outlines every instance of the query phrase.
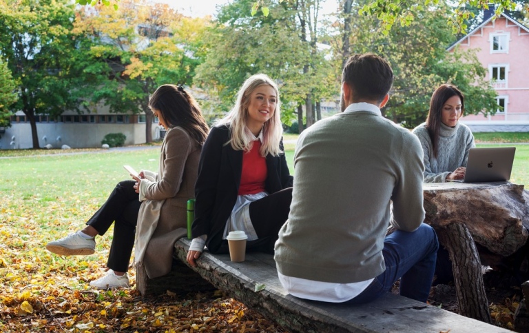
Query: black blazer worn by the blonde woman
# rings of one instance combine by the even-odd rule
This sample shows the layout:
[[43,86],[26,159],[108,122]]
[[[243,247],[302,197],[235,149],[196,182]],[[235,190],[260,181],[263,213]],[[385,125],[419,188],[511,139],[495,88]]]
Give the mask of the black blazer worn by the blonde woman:
[[[211,128],[198,162],[195,219],[191,234],[193,238],[207,234],[206,245],[211,253],[220,248],[222,232],[237,200],[242,172],[243,151],[226,145],[228,140],[228,125]],[[282,141],[280,148],[283,150]],[[284,154],[276,157],[268,154],[265,190],[272,194],[291,187],[292,183],[293,177],[289,174]]]

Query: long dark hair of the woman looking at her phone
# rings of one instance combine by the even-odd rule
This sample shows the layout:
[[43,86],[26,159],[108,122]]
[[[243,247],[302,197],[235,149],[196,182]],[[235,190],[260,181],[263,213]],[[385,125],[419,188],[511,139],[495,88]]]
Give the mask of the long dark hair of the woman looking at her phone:
[[174,84],[160,85],[149,99],[149,108],[160,111],[169,128],[180,126],[203,145],[209,127],[198,103],[184,88]]

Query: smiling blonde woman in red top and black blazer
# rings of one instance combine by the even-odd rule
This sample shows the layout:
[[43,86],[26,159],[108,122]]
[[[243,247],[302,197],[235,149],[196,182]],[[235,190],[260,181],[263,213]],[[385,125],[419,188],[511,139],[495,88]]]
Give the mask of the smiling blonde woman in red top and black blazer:
[[292,200],[281,137],[278,87],[265,74],[253,75],[200,154],[189,264],[205,245],[227,253],[226,236],[235,230],[246,232],[247,249],[273,252]]

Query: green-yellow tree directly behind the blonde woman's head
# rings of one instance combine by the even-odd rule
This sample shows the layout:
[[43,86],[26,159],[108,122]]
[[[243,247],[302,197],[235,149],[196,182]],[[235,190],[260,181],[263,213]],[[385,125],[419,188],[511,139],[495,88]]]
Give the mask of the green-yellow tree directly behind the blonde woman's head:
[[[329,97],[326,84],[331,68],[324,50],[311,49],[302,38],[297,11],[287,3],[270,8],[269,15],[246,13],[251,0],[238,0],[220,8],[218,24],[208,34],[209,52],[197,70],[196,82],[218,92],[220,109],[234,103],[240,85],[251,74],[264,72],[280,84],[282,120],[290,123],[301,105]],[[312,105],[312,102],[311,102]],[[312,110],[312,107],[311,107]]]

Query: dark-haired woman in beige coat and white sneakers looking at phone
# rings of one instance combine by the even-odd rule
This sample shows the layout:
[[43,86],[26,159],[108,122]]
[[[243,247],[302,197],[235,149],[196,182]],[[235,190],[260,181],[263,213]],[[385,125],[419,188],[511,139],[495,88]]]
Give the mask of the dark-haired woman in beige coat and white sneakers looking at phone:
[[149,108],[167,130],[158,172],[141,170],[134,180],[121,181],[83,230],[46,245],[50,252],[65,256],[93,254],[95,236],[114,223],[110,270],[90,282],[92,287],[129,286],[135,235],[136,264],[145,266],[150,279],[167,274],[174,243],[186,234],[187,201],[194,198],[198,160],[209,128],[195,99],[182,87],[161,85],[149,99]]

